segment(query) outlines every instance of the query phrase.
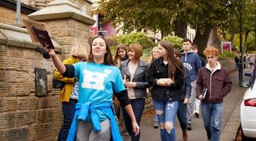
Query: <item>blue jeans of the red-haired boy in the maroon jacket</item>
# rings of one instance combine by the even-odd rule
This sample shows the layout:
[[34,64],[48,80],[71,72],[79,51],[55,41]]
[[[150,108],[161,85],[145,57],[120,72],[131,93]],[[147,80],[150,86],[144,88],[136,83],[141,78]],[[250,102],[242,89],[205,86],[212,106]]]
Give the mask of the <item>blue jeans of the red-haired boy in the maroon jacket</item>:
[[202,118],[204,121],[207,138],[211,141],[220,140],[220,128],[222,124],[222,103],[202,102]]

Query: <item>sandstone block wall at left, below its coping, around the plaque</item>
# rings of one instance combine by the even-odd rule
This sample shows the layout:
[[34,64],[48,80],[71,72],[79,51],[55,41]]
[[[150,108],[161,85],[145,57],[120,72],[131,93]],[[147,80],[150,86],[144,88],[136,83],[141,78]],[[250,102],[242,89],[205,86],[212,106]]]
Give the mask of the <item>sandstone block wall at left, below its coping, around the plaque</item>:
[[[0,140],[56,140],[61,105],[51,60],[35,47],[2,43],[0,54]],[[46,70],[47,96],[36,96],[35,68]]]

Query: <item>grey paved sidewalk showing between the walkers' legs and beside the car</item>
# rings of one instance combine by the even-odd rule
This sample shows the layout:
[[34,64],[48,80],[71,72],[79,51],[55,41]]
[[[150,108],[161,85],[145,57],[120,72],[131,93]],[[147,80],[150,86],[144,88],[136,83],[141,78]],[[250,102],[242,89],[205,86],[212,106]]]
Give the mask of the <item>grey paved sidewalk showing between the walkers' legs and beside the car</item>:
[[[244,76],[244,80],[249,79]],[[222,114],[222,141],[234,141],[237,135],[237,129],[240,126],[240,102],[243,94],[247,88],[240,88],[238,86],[238,72],[231,73],[231,80],[233,82],[231,93],[224,99],[223,114]],[[154,117],[143,119],[140,125],[141,141],[158,141],[160,140],[159,129],[153,128]],[[181,128],[176,119],[175,122],[176,141],[182,141]],[[202,122],[202,117],[193,117],[193,130],[187,131],[189,141],[207,141],[205,128]],[[125,136],[125,141],[131,140],[129,136]]]

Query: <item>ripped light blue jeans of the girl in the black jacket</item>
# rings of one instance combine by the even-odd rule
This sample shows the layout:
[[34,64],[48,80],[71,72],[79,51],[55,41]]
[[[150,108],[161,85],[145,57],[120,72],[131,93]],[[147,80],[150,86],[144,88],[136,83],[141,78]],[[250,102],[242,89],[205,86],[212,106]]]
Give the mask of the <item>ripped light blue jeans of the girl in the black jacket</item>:
[[[160,102],[153,100],[154,109],[160,124],[160,137],[162,141],[175,141],[175,118],[178,111],[178,101]],[[163,125],[165,128],[163,128]]]

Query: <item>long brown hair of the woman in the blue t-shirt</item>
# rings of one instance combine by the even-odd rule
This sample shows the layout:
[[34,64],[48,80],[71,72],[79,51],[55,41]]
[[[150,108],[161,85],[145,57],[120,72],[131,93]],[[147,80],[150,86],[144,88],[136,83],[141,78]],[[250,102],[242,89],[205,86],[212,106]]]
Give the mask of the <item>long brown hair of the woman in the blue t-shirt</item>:
[[115,63],[113,62],[112,55],[111,55],[110,47],[107,44],[107,41],[106,41],[106,39],[104,39],[103,36],[96,36],[96,37],[93,38],[93,40],[92,40],[92,42],[90,44],[90,54],[89,54],[89,61],[88,62],[94,62],[94,59],[93,59],[94,57],[93,57],[93,53],[92,53],[92,47],[93,47],[93,41],[96,38],[103,39],[105,44],[106,44],[107,53],[105,53],[105,55],[104,55],[104,63],[107,64],[107,65],[115,65]]

